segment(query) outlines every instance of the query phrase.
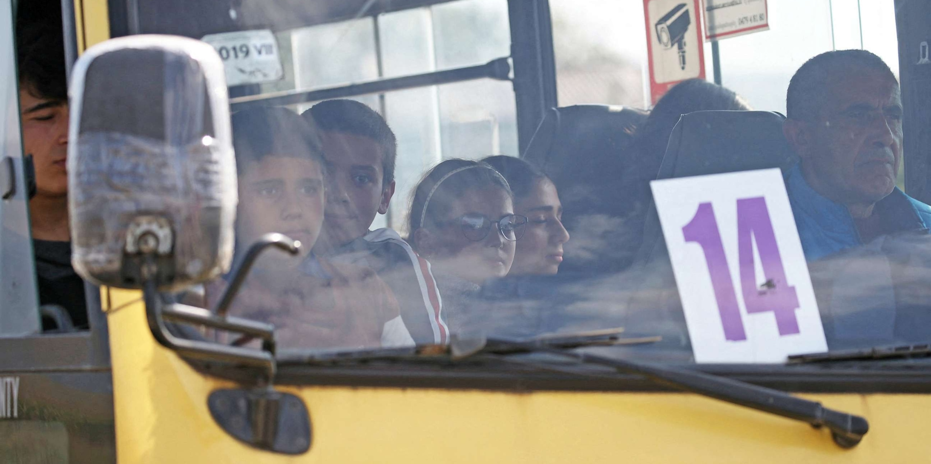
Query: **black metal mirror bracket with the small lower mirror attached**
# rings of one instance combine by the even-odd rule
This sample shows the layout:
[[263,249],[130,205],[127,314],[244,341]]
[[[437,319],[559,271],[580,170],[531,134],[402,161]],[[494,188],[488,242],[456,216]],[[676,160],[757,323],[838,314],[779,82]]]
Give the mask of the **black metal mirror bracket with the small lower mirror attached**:
[[[210,415],[223,430],[251,446],[290,455],[306,452],[310,448],[310,415],[307,407],[297,396],[271,387],[277,370],[275,326],[227,317],[225,311],[214,313],[200,307],[163,303],[158,293],[160,276],[155,262],[166,255],[170,257],[172,241],[169,222],[156,216],[140,216],[127,230],[125,251],[140,261],[145,314],[155,340],[182,357],[260,369],[258,387],[255,389],[220,389],[210,393]],[[232,302],[256,257],[268,247],[277,247],[294,254],[300,243],[281,234],[267,234],[253,244],[243,263],[237,267],[234,281],[223,293],[225,307]],[[262,348],[228,346],[196,337],[177,336],[172,334],[166,322],[192,323],[260,338]]]

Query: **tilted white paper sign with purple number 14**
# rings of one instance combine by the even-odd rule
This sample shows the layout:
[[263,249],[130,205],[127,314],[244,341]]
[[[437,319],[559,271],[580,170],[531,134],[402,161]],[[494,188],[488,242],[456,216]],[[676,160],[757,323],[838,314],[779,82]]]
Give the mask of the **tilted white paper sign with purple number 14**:
[[654,181],[695,362],[828,349],[779,170]]

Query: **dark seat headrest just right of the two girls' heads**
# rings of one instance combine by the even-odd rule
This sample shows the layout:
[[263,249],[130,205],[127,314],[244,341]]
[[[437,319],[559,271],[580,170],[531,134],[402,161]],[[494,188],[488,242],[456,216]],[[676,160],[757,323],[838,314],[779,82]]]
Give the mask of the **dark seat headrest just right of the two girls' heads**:
[[547,174],[558,172],[567,161],[591,159],[592,154],[616,153],[629,142],[644,119],[643,110],[605,104],[577,104],[550,108],[523,158]]

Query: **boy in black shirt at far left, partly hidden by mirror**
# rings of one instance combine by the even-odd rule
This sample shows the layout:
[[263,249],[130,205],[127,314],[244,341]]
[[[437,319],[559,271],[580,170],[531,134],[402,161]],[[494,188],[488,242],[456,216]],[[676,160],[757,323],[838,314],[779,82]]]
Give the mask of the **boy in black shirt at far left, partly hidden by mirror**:
[[[33,157],[29,201],[40,305],[64,307],[77,329],[88,328],[84,280],[71,266],[68,226],[68,83],[61,6],[24,2],[16,24],[22,152]],[[50,328],[44,321],[46,328]]]

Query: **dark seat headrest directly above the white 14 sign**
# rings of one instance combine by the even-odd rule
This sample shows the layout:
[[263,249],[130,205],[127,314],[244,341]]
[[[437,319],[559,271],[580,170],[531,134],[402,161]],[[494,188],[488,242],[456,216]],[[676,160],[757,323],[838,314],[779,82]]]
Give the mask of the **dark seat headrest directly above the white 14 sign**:
[[782,133],[785,116],[769,111],[696,111],[669,136],[657,179],[767,168],[789,169],[798,157]]

